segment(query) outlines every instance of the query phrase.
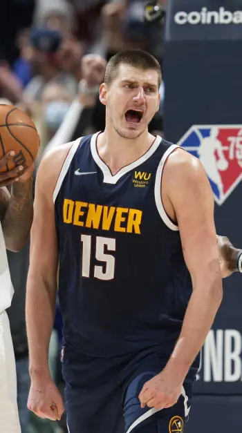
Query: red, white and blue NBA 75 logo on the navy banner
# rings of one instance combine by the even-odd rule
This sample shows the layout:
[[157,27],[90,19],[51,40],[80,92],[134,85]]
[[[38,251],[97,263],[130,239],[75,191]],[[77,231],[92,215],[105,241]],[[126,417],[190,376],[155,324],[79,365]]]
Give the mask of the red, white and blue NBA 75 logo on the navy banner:
[[223,204],[242,179],[242,125],[194,125],[178,142],[198,157]]

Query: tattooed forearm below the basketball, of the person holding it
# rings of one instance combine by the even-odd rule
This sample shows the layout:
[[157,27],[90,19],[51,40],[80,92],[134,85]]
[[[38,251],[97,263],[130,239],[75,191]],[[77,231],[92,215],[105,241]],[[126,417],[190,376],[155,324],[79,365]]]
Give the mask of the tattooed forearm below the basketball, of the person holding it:
[[7,249],[19,251],[24,247],[30,232],[32,216],[32,179],[15,182],[1,222]]

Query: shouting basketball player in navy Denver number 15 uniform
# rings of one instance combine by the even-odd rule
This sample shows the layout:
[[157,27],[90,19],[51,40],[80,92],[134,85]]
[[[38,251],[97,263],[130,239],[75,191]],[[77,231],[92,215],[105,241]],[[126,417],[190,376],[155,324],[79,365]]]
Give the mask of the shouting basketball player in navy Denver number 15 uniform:
[[105,131],[54,149],[39,166],[28,408],[53,420],[64,411],[48,369],[59,263],[70,433],[116,433],[123,421],[126,433],[167,433],[174,420],[182,427],[221,303],[207,175],[198,159],[148,133],[160,80],[147,52],[112,57],[100,86]]

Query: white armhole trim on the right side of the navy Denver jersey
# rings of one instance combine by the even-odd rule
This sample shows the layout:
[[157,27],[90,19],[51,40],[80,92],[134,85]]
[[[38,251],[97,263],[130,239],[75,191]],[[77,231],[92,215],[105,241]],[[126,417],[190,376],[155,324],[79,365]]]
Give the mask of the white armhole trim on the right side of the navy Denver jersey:
[[171,229],[173,231],[178,231],[179,227],[169,219],[169,216],[167,215],[167,213],[164,209],[164,206],[162,204],[161,178],[162,178],[162,172],[163,172],[167,157],[169,157],[169,155],[178,147],[179,146],[177,146],[176,144],[172,144],[167,149],[167,151],[165,151],[164,155],[162,156],[162,158],[160,160],[160,164],[158,165],[158,169],[156,171],[156,182],[155,182],[155,200],[156,200],[156,207],[157,207],[158,213],[160,213],[160,218],[162,219],[162,221],[165,222],[167,227],[169,227],[169,229]]

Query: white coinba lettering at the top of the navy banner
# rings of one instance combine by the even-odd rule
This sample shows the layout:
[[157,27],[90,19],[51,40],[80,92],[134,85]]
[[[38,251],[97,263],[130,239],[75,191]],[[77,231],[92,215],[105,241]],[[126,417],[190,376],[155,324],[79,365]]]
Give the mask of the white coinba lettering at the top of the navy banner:
[[198,24],[242,24],[242,10],[231,12],[223,7],[218,10],[208,10],[203,7],[200,11],[192,10],[191,12],[180,10],[174,15],[174,21],[178,26],[184,24],[191,24],[192,26]]

